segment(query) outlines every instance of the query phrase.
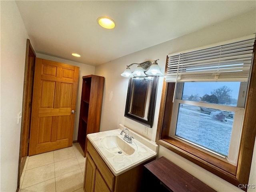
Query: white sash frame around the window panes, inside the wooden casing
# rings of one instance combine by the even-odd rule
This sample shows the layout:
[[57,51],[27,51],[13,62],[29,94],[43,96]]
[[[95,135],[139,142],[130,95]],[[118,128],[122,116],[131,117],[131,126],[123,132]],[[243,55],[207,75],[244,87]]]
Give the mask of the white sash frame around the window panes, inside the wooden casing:
[[[237,158],[238,158],[238,148],[240,143],[240,135],[242,130],[242,122],[244,117],[244,104],[246,96],[240,96],[238,97],[237,106],[228,106],[224,104],[214,104],[214,103],[204,103],[204,102],[196,102],[196,101],[190,101],[190,100],[183,100],[183,89],[184,89],[184,83],[186,82],[178,82],[177,83],[177,89],[176,89],[176,95],[174,96],[173,105],[174,108],[172,109],[173,119],[170,124],[170,134],[169,136],[175,139],[178,139],[183,142],[189,143],[189,145],[194,146],[195,148],[198,148],[199,150],[202,150],[208,154],[211,154],[213,156],[216,156],[217,158],[220,158],[226,162],[229,162],[231,164],[236,165]],[[207,82],[206,82],[207,83]],[[214,83],[214,82],[209,82]],[[247,85],[248,82],[240,82],[240,88],[239,88],[239,95],[242,95],[242,92],[247,92]],[[246,94],[245,94],[246,95]],[[194,142],[190,142],[186,140],[186,138],[180,138],[176,135],[176,126],[178,122],[178,112],[179,112],[179,104],[189,104],[192,106],[198,106],[198,107],[206,107],[206,108],[214,108],[218,110],[227,110],[234,112],[234,123],[232,126],[232,132],[230,135],[230,147],[228,151],[228,156],[225,157],[222,154],[218,154],[218,152],[214,152],[210,149],[206,149],[204,146],[200,146]]]

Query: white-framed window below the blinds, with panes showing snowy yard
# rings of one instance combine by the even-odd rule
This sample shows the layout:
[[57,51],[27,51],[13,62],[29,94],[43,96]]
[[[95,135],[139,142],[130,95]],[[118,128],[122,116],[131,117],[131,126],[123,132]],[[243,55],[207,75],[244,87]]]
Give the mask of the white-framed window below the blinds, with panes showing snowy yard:
[[246,90],[247,82],[178,83],[169,136],[236,165]]

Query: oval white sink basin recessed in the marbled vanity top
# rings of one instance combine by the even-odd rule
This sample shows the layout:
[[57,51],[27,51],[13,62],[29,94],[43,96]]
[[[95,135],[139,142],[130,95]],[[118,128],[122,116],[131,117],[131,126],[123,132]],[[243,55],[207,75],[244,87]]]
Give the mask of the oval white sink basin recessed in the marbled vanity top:
[[137,145],[133,142],[129,144],[118,134],[104,136],[101,140],[102,146],[112,154],[132,155],[137,150]]

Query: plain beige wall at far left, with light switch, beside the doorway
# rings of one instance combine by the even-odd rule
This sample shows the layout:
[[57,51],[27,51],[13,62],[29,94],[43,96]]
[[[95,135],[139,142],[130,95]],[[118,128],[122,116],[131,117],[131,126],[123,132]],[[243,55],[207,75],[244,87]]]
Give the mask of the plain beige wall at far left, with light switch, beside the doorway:
[[16,191],[20,150],[26,39],[28,34],[14,1],[1,1],[1,182],[0,191]]

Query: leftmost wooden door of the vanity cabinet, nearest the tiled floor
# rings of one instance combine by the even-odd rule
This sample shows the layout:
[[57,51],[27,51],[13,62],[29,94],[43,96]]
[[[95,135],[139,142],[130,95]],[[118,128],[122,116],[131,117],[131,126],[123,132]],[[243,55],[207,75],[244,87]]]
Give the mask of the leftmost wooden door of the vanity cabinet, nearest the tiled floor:
[[84,189],[86,192],[94,192],[96,165],[89,153],[86,153],[86,169],[84,174]]

